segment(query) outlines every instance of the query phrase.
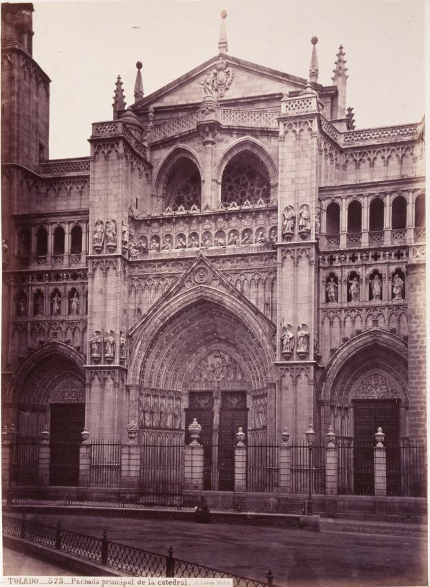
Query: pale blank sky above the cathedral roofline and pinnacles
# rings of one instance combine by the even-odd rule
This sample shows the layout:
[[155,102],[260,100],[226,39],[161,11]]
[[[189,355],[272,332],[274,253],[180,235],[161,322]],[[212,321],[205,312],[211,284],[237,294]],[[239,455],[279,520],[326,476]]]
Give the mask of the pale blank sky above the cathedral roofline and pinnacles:
[[117,75],[134,102],[136,61],[148,95],[217,55],[226,10],[228,53],[307,78],[317,35],[319,82],[331,85],[340,44],[356,128],[424,115],[424,0],[35,1],[33,57],[50,85],[50,158],[90,154],[91,123],[113,117]]

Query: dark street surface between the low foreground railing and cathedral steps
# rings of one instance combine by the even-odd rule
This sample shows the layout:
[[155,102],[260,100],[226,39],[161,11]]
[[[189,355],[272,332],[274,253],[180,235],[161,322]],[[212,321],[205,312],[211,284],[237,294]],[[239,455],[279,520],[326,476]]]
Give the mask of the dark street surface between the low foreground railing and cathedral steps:
[[[120,514],[119,514],[120,515]],[[282,587],[427,585],[427,541],[422,536],[306,532],[266,526],[196,524],[172,519],[130,519],[27,514],[54,526],[265,579],[273,570]],[[335,521],[338,523],[338,521]],[[332,528],[333,530],[333,528]]]

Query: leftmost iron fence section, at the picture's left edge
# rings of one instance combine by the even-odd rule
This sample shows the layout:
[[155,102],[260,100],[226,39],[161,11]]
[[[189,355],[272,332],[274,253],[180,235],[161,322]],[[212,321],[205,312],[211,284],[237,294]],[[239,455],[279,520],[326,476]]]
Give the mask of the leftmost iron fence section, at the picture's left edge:
[[39,440],[17,439],[10,447],[10,485],[38,485]]

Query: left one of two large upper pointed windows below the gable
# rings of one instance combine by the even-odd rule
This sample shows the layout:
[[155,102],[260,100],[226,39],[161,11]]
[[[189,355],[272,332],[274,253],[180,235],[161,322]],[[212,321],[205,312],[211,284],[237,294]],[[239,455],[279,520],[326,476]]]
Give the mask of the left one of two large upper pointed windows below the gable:
[[179,157],[168,173],[164,188],[166,207],[174,212],[183,206],[190,210],[202,206],[202,179],[197,165],[189,157]]

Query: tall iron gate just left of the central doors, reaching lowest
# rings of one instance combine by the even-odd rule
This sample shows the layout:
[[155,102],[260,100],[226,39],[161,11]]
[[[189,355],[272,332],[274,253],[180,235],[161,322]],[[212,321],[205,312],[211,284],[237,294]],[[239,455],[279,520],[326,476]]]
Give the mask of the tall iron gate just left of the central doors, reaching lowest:
[[182,503],[184,445],[142,444],[140,501],[167,506]]

